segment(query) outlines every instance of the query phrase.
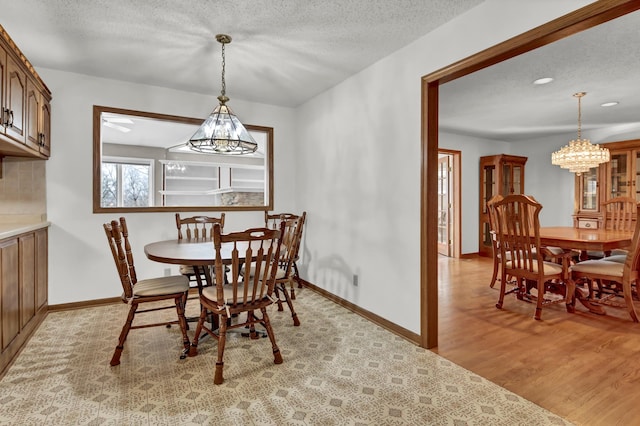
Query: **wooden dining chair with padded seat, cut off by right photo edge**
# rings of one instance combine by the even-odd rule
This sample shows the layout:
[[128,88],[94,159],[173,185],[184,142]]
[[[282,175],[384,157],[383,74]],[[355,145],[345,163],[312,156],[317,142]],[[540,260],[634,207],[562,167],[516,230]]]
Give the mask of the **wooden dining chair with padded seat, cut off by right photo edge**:
[[[636,205],[636,215],[640,204]],[[621,257],[621,255],[618,255]],[[640,221],[635,221],[631,247],[624,256],[624,263],[608,258],[591,259],[577,263],[569,269],[569,280],[573,285],[586,283],[589,286],[589,301],[599,305],[626,308],[631,320],[638,322],[635,302],[638,300],[638,277],[640,270]],[[601,283],[613,283],[604,286]],[[597,284],[599,291],[594,292]]]

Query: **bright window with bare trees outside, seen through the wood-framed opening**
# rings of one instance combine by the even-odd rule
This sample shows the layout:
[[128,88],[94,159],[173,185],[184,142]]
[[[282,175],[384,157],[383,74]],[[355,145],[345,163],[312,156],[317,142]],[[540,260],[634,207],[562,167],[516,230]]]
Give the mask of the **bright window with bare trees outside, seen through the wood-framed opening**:
[[153,160],[103,157],[101,207],[148,207],[153,194]]

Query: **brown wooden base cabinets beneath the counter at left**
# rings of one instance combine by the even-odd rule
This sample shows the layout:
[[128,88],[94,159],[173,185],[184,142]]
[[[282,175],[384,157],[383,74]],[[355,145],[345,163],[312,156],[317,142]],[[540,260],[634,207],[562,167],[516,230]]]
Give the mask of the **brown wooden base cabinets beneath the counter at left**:
[[0,240],[0,373],[47,311],[47,228]]

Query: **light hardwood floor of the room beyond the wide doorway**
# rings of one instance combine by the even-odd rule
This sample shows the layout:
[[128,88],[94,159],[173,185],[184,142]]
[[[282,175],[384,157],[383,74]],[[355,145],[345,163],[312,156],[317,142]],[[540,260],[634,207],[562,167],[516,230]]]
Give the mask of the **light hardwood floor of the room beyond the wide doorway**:
[[490,258],[439,259],[439,346],[433,351],[578,425],[640,423],[640,324],[577,304],[543,309],[489,287]]

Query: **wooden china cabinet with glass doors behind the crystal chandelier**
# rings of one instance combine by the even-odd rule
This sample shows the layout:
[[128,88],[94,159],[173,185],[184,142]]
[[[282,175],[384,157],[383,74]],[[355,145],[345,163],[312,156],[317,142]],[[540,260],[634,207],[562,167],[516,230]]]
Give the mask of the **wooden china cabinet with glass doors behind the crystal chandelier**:
[[640,139],[602,144],[611,160],[576,175],[573,223],[577,228],[600,228],[600,206],[614,197],[640,202]]

